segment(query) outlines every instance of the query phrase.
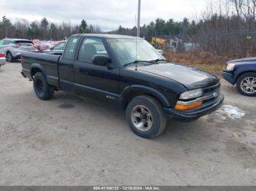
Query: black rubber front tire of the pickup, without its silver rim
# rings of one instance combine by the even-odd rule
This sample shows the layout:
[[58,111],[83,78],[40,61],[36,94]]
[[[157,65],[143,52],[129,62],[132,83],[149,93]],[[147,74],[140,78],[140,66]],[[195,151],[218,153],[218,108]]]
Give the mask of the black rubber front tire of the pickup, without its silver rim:
[[[152,121],[151,128],[148,130],[139,130],[135,127],[135,122],[132,120],[133,112],[140,106],[145,107],[146,110],[149,110],[151,113],[151,117],[149,117],[151,119],[150,121]],[[157,101],[157,99],[148,95],[140,95],[133,98],[132,101],[129,102],[126,110],[126,118],[129,128],[131,128],[132,131],[138,136],[144,137],[146,139],[153,139],[159,136],[165,129],[167,122],[167,117],[162,109],[162,105],[159,103],[159,101]]]

